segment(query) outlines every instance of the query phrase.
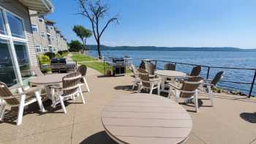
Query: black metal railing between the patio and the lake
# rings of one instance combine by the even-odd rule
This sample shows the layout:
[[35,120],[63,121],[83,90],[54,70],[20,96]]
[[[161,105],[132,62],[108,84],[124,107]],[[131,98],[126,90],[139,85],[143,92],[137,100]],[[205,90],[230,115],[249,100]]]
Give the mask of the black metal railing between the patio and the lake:
[[[144,60],[145,61],[145,60]],[[248,96],[251,97],[252,96],[252,93],[254,91],[254,86],[255,86],[255,78],[256,78],[256,69],[252,69],[252,68],[241,68],[241,67],[211,67],[211,66],[206,66],[206,65],[200,65],[200,64],[188,64],[188,63],[183,63],[183,62],[176,62],[176,61],[162,61],[162,60],[156,60],[156,59],[149,59],[149,60],[146,60],[146,61],[150,61],[150,62],[154,62],[156,64],[156,67],[157,67],[157,64],[162,62],[162,63],[172,63],[172,64],[175,64],[176,66],[178,64],[181,64],[181,65],[189,65],[189,66],[201,66],[203,68],[206,68],[206,75],[203,75],[205,76],[206,79],[208,79],[211,75],[211,70],[212,69],[232,69],[232,70],[247,70],[247,71],[252,71],[253,72],[253,76],[252,76],[252,81],[251,82],[242,82],[242,81],[234,81],[234,80],[220,80],[220,82],[222,83],[236,83],[236,84],[241,84],[241,85],[249,85],[249,93],[248,93]],[[161,69],[161,67],[157,67],[157,69]],[[238,75],[237,75],[238,76]],[[225,77],[228,77],[228,76],[225,76]],[[233,86],[225,86],[225,87],[229,87],[229,88],[233,88],[233,89],[236,89],[234,88]],[[241,90],[244,90],[244,91],[248,91],[246,89],[243,89],[243,88],[240,88]]]

